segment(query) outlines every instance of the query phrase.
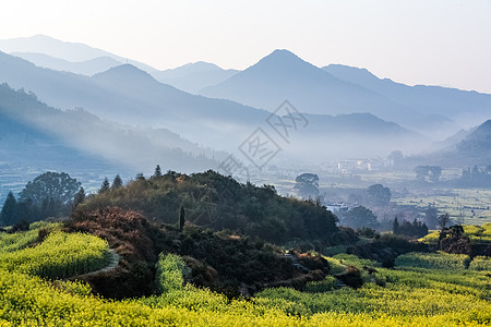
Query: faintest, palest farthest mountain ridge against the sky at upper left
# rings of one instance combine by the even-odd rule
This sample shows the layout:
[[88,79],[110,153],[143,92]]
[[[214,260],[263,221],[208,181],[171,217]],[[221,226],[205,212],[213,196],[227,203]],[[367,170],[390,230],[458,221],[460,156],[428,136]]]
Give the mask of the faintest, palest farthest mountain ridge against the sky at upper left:
[[0,40],[0,51],[12,52],[34,52],[44,53],[49,57],[59,58],[70,62],[83,62],[99,57],[109,57],[118,62],[131,63],[146,72],[153,73],[156,69],[127,58],[89,47],[79,43],[67,43],[46,35],[34,35],[31,37],[19,37]]

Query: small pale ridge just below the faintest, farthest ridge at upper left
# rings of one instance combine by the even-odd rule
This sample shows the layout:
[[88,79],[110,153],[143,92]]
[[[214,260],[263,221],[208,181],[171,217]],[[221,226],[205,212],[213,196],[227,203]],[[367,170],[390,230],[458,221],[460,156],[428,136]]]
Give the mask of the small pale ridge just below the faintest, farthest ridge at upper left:
[[122,64],[111,57],[97,57],[91,60],[72,62],[64,59],[50,57],[45,53],[35,52],[12,52],[12,56],[31,61],[37,66],[47,68],[55,71],[65,71],[75,74],[92,76],[96,73],[107,71],[110,68]]

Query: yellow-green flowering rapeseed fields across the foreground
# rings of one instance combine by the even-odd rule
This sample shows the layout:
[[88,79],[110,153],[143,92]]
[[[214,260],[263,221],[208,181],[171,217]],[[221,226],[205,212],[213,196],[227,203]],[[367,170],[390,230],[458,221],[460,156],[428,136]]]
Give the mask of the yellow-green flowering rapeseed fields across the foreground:
[[[28,233],[14,235],[25,245]],[[39,277],[43,275],[39,270],[12,269],[8,262],[0,261],[2,326],[486,326],[491,323],[491,303],[487,300],[491,295],[490,271],[482,258],[477,258],[479,269],[463,266],[454,269],[462,259],[458,255],[432,254],[431,259],[438,263],[434,269],[416,265],[421,256],[409,254],[400,257],[395,269],[385,269],[374,262],[344,254],[328,258],[335,267],[332,274],[350,265],[360,269],[371,265],[376,271],[363,271],[364,283],[359,289],[337,286],[327,276],[325,282],[308,284],[304,291],[266,289],[249,299],[230,300],[206,289],[182,286],[181,270],[171,264],[173,256],[165,257],[167,264],[159,280],[178,282],[167,282],[161,294],[112,301],[91,294],[87,284],[61,279],[73,266],[68,258],[81,262],[91,257],[94,250],[105,252],[107,247],[100,239],[55,231],[37,245],[32,240],[29,246],[20,245],[12,251],[13,237],[1,234],[0,241],[4,238],[11,239],[2,243],[9,243],[11,251],[5,252],[3,246],[0,257],[27,257],[28,252],[29,259],[36,262],[46,251],[52,255],[61,247],[76,255],[57,263],[58,269],[51,270],[49,279]],[[87,266],[96,269],[98,256],[93,255],[89,261],[94,264]]]

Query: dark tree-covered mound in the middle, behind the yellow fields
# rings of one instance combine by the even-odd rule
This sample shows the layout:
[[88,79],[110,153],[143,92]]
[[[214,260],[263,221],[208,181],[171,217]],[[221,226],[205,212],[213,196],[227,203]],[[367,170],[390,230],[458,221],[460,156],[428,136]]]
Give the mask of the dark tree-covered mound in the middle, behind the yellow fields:
[[274,186],[241,184],[212,170],[139,177],[89,196],[79,210],[113,206],[139,211],[157,223],[176,223],[182,206],[185,220],[195,226],[228,229],[278,245],[309,242],[311,249],[321,250],[352,241],[336,227],[336,216],[320,204],[283,197]]

